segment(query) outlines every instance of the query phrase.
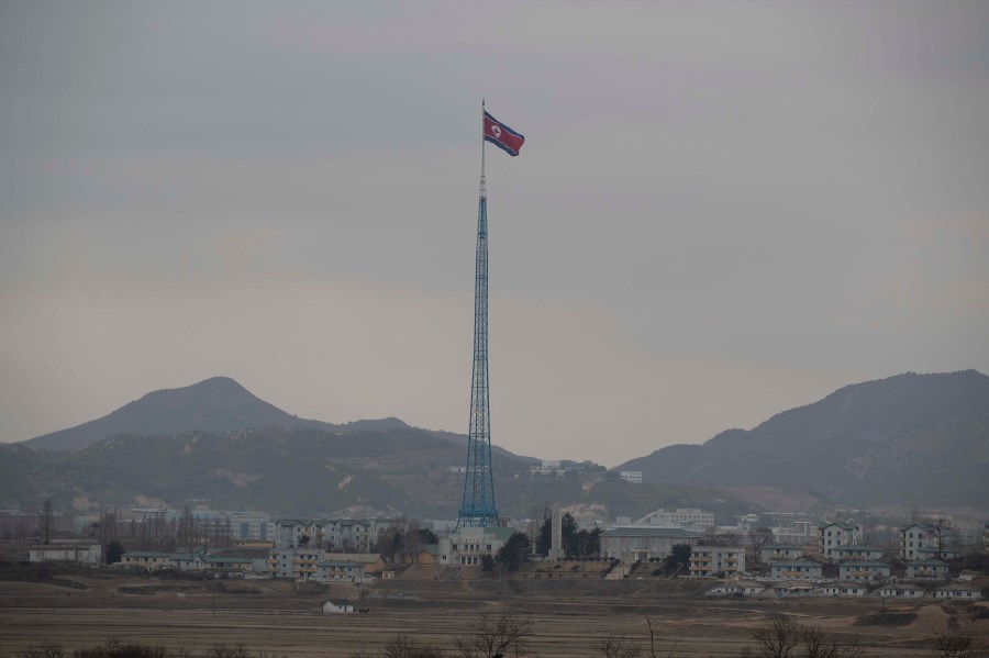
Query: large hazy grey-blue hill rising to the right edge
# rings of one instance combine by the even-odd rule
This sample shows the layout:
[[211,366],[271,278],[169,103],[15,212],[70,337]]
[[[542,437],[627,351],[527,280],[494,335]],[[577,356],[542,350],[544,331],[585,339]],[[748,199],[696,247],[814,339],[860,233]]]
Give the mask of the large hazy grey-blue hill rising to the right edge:
[[905,373],[842,388],[702,445],[627,461],[643,481],[804,489],[866,505],[986,508],[989,377]]

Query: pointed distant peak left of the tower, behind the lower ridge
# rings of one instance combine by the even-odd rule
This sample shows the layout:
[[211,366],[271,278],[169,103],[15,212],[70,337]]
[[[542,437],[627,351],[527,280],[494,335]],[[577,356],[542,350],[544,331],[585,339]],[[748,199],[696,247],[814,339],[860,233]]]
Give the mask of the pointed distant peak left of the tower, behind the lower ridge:
[[180,389],[154,391],[96,421],[23,443],[32,448],[65,450],[120,434],[227,434],[260,427],[334,432],[344,428],[398,430],[407,425],[398,419],[357,421],[347,425],[300,419],[257,398],[229,377],[212,377]]

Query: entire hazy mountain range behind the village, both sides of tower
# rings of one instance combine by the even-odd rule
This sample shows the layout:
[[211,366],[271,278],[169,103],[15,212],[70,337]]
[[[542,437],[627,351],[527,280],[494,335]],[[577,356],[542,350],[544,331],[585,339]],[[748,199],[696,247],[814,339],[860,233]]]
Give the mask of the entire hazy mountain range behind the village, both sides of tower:
[[[91,509],[202,499],[284,514],[364,505],[449,517],[463,484],[451,467],[464,464],[465,440],[397,419],[299,419],[218,377],[0,445],[0,504],[53,497]],[[848,386],[754,430],[669,446],[615,469],[642,470],[643,486],[605,478],[582,489],[577,479],[529,478],[532,458],[497,447],[494,461],[499,506],[510,514],[548,501],[601,504],[609,514],[673,504],[727,514],[741,503],[720,488],[747,486],[860,506],[987,508],[989,377],[907,373]]]

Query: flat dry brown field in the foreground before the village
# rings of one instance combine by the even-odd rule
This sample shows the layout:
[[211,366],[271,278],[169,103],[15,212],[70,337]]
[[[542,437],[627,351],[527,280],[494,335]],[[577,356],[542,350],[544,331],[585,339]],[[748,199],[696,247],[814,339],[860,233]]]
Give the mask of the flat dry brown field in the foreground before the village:
[[[708,601],[685,581],[390,581],[299,591],[276,581],[182,581],[71,577],[85,589],[0,582],[0,656],[55,639],[66,648],[121,640],[204,650],[243,643],[278,656],[346,658],[380,651],[389,638],[413,635],[453,647],[484,615],[510,613],[530,623],[533,656],[594,656],[609,635],[671,655],[733,657],[769,615],[796,615],[837,637],[859,637],[866,656],[932,656],[933,632],[957,625],[989,638],[989,605],[868,601]],[[704,583],[709,585],[709,583]],[[218,585],[225,591],[215,591]],[[370,609],[322,614],[326,599]],[[892,614],[891,614],[892,613]],[[903,616],[897,613],[913,613]],[[879,616],[870,616],[870,615]],[[865,623],[863,623],[865,622]],[[893,625],[893,624],[904,625]]]

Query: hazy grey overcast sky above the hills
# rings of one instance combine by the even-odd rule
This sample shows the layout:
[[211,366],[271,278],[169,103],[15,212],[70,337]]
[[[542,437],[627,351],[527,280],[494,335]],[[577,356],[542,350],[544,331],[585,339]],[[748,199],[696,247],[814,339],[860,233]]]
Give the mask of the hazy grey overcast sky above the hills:
[[215,375],[613,466],[989,372],[987,2],[0,0],[0,440]]

